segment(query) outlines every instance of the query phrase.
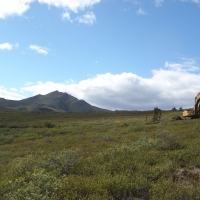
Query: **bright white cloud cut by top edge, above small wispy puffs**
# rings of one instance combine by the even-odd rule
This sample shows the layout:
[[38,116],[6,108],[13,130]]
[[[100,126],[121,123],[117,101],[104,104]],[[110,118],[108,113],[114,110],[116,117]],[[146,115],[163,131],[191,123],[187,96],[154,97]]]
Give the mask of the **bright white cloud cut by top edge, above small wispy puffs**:
[[64,8],[77,13],[79,10],[84,10],[91,7],[101,0],[38,0],[39,3],[45,3],[49,6]]

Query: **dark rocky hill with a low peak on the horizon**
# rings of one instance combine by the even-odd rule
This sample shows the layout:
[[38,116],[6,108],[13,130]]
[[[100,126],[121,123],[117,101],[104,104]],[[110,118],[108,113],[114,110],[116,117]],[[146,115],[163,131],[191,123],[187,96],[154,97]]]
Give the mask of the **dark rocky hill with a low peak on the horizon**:
[[23,100],[7,100],[0,98],[0,106],[19,111],[46,111],[46,112],[106,112],[109,110],[90,105],[67,93],[59,91],[47,95],[36,95]]

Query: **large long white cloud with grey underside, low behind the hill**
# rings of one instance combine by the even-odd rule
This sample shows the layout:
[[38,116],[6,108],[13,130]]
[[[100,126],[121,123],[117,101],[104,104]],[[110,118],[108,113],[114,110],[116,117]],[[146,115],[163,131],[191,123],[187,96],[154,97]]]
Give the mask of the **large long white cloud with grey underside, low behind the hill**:
[[200,74],[194,70],[199,70],[196,62],[185,59],[181,63],[166,62],[164,68],[153,70],[151,78],[133,73],[106,73],[78,83],[38,82],[21,91],[36,95],[59,90],[112,110],[188,108],[193,106],[194,97],[200,91]]

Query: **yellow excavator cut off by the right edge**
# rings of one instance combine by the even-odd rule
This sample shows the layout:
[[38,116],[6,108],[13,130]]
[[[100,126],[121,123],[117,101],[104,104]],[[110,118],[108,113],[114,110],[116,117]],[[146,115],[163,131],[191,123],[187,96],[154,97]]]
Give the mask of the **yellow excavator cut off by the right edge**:
[[200,116],[200,92],[197,94],[194,100],[194,108],[185,110],[183,112],[183,118],[198,118]]

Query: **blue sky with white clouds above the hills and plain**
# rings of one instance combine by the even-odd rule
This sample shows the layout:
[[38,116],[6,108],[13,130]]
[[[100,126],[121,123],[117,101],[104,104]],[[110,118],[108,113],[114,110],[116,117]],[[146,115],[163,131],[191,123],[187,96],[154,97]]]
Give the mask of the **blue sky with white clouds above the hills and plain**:
[[0,0],[0,98],[190,108],[199,53],[200,0]]

